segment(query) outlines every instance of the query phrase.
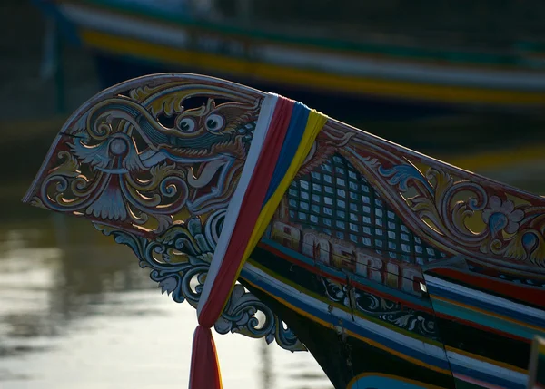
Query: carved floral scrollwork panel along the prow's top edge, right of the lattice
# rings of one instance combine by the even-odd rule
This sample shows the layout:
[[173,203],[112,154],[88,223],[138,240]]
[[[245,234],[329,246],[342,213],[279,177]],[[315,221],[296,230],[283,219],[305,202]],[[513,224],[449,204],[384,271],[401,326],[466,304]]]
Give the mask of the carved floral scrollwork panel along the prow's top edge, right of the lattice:
[[[321,132],[304,169],[338,152],[415,234],[433,248],[479,263],[545,268],[545,201],[341,125]],[[320,152],[317,152],[319,150]]]

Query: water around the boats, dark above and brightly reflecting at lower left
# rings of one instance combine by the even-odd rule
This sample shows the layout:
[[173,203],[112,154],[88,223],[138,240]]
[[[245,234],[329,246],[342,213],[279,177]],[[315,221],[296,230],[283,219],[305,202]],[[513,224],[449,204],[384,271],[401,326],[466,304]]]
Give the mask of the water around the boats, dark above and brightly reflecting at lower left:
[[[41,15],[25,1],[3,0],[0,25],[0,388],[186,387],[193,308],[162,296],[128,248],[88,223],[20,203],[54,133],[99,91],[91,56],[64,51],[59,112],[54,77],[42,66]],[[539,116],[339,119],[545,193]],[[225,389],[331,388],[308,353],[265,346],[263,339],[215,338]]]

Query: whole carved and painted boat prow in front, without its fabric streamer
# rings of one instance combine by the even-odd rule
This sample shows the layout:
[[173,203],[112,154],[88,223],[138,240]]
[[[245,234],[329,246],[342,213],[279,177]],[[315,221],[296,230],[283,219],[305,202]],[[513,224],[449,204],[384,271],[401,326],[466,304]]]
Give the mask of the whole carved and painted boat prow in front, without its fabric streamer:
[[[265,96],[118,84],[74,112],[24,200],[90,219],[196,306]],[[544,198],[329,119],[215,329],[308,349],[336,388],[523,388],[544,234]]]

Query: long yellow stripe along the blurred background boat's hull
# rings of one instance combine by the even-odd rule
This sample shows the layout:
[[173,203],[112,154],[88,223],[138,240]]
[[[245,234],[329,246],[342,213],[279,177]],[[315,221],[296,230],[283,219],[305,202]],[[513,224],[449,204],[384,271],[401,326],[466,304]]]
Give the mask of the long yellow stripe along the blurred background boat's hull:
[[289,83],[309,89],[368,94],[430,102],[483,103],[498,105],[545,105],[545,92],[517,92],[466,88],[450,85],[377,80],[312,70],[295,69],[269,63],[253,63],[213,53],[175,49],[131,38],[81,30],[84,44],[120,55],[147,60],[179,63],[192,68],[258,78],[270,83]]

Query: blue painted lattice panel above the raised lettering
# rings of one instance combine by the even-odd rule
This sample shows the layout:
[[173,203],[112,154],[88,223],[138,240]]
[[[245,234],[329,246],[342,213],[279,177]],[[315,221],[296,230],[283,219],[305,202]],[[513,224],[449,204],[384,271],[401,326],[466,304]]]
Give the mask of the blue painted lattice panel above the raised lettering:
[[383,257],[423,265],[445,256],[415,236],[370,183],[338,155],[292,182],[288,209],[292,222]]

